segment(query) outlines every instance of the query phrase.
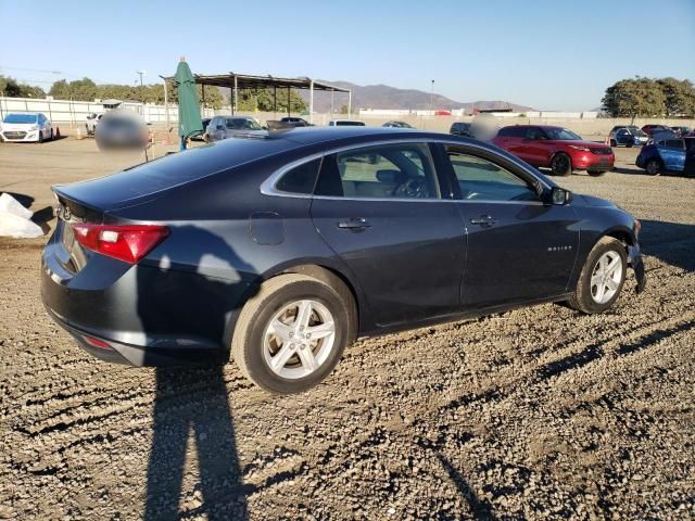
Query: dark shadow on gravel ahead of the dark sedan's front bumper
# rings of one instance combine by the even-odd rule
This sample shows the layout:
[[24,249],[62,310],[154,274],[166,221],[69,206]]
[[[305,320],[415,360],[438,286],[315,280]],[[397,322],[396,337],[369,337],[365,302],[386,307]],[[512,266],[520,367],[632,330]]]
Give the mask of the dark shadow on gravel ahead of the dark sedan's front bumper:
[[641,220],[640,245],[642,252],[672,266],[695,271],[695,225]]

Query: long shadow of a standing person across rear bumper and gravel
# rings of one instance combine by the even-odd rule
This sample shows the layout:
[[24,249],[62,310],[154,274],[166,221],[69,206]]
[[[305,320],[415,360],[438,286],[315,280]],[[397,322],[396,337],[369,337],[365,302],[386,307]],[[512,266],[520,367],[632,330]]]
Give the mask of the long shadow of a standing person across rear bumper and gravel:
[[[138,318],[148,345],[155,346],[144,353],[143,364],[159,366],[143,518],[245,520],[249,487],[223,368],[229,359],[229,323],[239,303],[255,293],[255,270],[228,239],[194,226],[169,231],[137,270]],[[193,243],[194,249],[186,247]],[[220,268],[238,280],[211,276]],[[191,355],[190,345],[199,345],[200,353],[193,348]],[[186,359],[193,364],[203,361],[203,354],[214,356],[206,356],[204,366],[162,367],[173,363],[168,355],[178,348],[189,351]],[[187,455],[191,445],[197,459]],[[192,473],[198,483],[182,498],[184,480]]]

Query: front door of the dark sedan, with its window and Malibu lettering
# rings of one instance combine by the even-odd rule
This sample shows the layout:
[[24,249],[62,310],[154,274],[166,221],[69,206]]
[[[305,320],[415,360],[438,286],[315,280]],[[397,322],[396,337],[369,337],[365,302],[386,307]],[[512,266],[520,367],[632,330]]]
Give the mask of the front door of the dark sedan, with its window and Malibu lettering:
[[448,144],[442,156],[466,223],[463,306],[480,309],[566,294],[579,246],[579,217],[571,204],[545,204],[533,186],[536,177],[490,152]]

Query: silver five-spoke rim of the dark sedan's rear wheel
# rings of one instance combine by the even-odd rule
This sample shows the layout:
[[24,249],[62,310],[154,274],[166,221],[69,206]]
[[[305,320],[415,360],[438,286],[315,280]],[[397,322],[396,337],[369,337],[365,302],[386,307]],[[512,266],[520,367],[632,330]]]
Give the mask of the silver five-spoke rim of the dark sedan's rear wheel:
[[303,378],[328,359],[336,343],[336,322],[320,302],[301,300],[276,313],[263,334],[263,357],[287,379]]

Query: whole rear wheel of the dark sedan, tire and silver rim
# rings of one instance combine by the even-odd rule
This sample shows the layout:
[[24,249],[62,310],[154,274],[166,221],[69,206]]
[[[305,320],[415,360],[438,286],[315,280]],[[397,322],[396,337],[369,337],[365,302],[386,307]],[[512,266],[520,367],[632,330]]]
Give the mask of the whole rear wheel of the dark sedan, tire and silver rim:
[[341,290],[296,274],[264,282],[237,321],[231,354],[241,372],[274,394],[299,393],[324,380],[355,328],[352,303]]

